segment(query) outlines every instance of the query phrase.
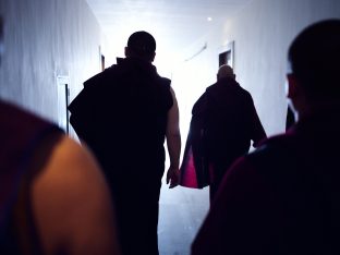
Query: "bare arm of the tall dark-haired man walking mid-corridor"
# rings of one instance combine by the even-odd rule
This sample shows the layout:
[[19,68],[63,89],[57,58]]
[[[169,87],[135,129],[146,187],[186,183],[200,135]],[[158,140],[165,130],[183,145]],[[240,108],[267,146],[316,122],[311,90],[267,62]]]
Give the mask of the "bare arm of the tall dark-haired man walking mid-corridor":
[[170,157],[170,168],[167,173],[167,183],[170,181],[170,187],[174,187],[179,182],[179,168],[181,156],[181,133],[179,121],[179,106],[173,89],[170,87],[173,105],[168,112],[167,123],[167,145]]

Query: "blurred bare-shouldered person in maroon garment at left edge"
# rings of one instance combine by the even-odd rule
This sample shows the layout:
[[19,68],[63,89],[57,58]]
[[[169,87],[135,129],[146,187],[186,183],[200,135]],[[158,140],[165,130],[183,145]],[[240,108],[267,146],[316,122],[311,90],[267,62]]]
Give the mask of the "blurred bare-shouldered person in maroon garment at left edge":
[[[0,17],[1,39],[2,29]],[[92,155],[1,100],[0,123],[0,254],[120,254],[110,193]]]

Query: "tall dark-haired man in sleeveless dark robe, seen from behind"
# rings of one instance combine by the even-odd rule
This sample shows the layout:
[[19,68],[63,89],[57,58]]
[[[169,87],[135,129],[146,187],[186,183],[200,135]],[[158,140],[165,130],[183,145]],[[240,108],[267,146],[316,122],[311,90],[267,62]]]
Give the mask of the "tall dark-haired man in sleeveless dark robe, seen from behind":
[[165,170],[165,137],[177,185],[181,136],[170,80],[151,64],[156,41],[132,34],[124,59],[84,83],[71,102],[71,124],[97,156],[117,207],[123,254],[158,254],[158,201]]

